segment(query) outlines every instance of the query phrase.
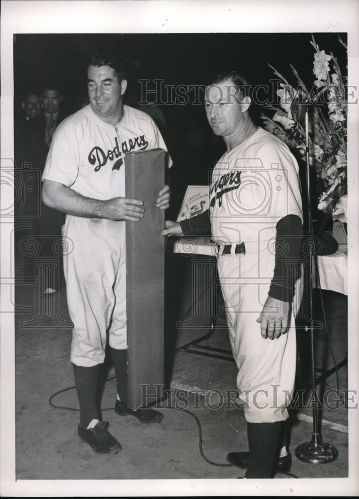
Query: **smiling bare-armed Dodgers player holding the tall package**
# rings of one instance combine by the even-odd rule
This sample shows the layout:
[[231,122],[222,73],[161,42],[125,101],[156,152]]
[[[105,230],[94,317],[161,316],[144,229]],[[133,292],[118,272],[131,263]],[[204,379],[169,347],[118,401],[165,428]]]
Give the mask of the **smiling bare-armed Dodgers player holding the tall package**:
[[[74,324],[70,359],[80,405],[78,434],[94,452],[117,453],[121,445],[95,403],[107,337],[117,379],[116,413],[141,422],[163,417],[152,409],[127,407],[125,221],[138,222],[146,207],[125,198],[124,155],[167,148],[152,118],[123,104],[127,81],[116,57],[93,55],[87,77],[90,104],[56,129],[42,176],[42,199],[67,214],[64,272]],[[164,186],[156,204],[164,210],[169,202],[170,190]]]

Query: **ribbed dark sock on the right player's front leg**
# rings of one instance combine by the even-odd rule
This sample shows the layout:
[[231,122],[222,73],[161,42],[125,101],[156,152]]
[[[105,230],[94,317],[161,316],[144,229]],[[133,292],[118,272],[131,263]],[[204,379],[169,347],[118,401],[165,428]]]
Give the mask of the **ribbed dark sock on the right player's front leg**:
[[271,478],[278,453],[281,421],[247,423],[249,466],[246,478]]

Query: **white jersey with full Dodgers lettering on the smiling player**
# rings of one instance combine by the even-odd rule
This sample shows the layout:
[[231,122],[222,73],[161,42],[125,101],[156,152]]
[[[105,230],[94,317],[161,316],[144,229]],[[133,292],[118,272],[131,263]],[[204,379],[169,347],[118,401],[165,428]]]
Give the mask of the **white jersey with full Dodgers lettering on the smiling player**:
[[56,128],[42,180],[59,182],[93,199],[125,197],[125,153],[155,148],[167,151],[148,114],[125,105],[121,121],[112,125],[89,104]]

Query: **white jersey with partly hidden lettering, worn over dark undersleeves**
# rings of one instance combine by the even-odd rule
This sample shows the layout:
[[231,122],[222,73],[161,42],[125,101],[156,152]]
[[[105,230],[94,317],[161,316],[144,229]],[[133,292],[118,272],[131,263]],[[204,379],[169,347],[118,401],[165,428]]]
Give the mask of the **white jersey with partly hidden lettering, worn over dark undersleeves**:
[[212,238],[218,242],[269,241],[283,217],[303,221],[297,161],[262,128],[216,163],[209,199]]

